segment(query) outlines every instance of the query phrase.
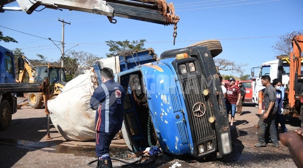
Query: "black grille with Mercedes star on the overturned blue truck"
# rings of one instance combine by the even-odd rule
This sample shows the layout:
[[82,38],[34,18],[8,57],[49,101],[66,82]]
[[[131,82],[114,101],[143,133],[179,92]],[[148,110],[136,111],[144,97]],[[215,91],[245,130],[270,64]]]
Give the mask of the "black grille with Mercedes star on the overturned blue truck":
[[[201,83],[201,76],[182,79],[180,80],[180,82],[185,95],[185,105],[188,106],[189,110],[189,124],[194,130],[196,143],[209,139],[211,137],[215,137],[215,130],[211,127],[211,123],[208,122],[208,118],[213,115],[210,108],[210,104],[208,102],[205,102],[203,90],[201,90],[202,85],[206,86],[205,83]],[[193,115],[192,111],[192,107],[198,102],[201,102],[206,105],[205,114],[201,117],[196,117],[195,115]]]

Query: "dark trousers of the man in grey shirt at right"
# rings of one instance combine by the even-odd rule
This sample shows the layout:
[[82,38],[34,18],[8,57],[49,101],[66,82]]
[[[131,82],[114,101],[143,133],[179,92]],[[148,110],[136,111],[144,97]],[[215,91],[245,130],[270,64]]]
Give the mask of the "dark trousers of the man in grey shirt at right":
[[278,110],[274,110],[275,114],[269,114],[268,118],[263,119],[261,115],[261,118],[258,122],[258,140],[259,143],[263,144],[265,143],[265,131],[266,127],[269,127],[269,134],[271,137],[272,144],[278,145],[278,136],[277,136],[277,129],[276,129],[276,113],[278,113]]

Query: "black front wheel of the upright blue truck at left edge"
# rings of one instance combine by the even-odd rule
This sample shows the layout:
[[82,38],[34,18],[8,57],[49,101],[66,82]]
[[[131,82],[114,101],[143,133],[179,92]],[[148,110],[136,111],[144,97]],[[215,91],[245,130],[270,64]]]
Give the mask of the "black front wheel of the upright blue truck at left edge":
[[12,109],[7,100],[0,105],[0,130],[7,130],[12,122]]

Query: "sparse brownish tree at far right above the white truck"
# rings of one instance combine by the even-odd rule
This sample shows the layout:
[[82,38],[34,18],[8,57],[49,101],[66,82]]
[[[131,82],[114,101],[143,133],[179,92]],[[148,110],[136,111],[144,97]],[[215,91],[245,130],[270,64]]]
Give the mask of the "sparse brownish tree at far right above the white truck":
[[271,48],[277,53],[277,55],[289,54],[292,51],[292,37],[296,35],[303,34],[303,30],[293,31],[291,33],[286,33],[283,36],[279,37],[279,40],[276,41],[274,46]]

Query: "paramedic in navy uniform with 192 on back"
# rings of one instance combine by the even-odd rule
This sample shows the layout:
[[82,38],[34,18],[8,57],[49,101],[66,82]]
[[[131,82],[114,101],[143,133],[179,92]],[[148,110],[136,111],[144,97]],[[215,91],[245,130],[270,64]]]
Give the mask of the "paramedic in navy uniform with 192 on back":
[[121,130],[124,115],[125,91],[113,79],[112,69],[101,70],[102,83],[97,87],[90,106],[96,110],[96,155],[97,167],[112,167],[109,157],[109,145],[115,135]]

